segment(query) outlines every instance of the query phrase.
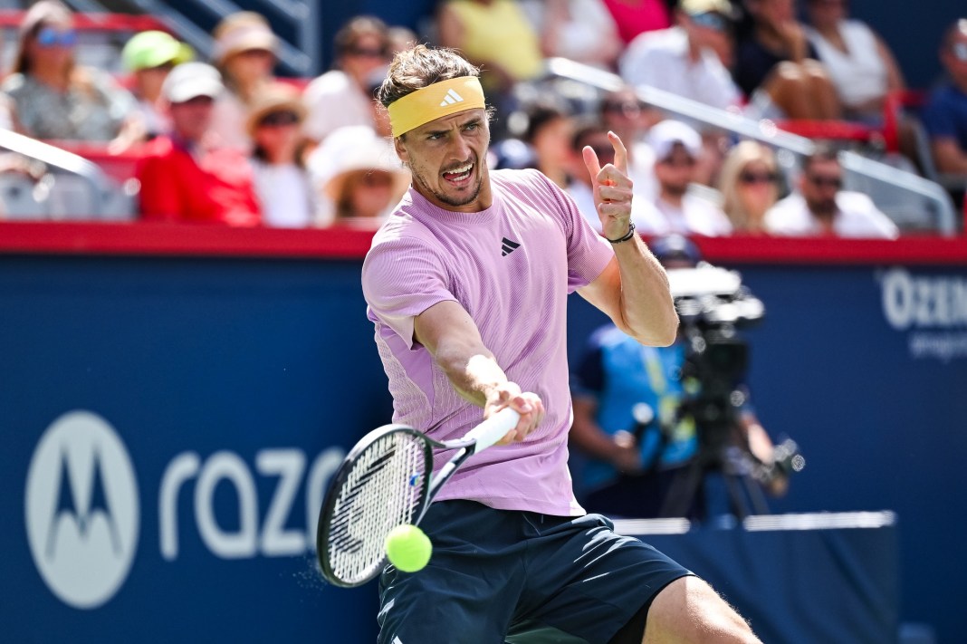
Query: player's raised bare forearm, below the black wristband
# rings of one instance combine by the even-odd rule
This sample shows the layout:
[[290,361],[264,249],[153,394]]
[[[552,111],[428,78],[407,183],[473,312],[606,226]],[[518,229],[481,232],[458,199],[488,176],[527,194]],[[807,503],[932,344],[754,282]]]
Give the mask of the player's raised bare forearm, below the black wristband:
[[678,333],[678,314],[664,268],[637,236],[614,245],[614,253],[621,274],[619,326],[644,344],[671,344]]

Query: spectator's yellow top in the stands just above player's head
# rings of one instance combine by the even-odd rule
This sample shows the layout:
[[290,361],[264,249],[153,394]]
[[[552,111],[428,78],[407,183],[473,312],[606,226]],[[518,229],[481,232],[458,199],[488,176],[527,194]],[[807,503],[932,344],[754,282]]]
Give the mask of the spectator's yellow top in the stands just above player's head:
[[451,0],[449,7],[463,27],[460,49],[471,61],[493,61],[514,80],[530,80],[541,73],[541,42],[516,2]]

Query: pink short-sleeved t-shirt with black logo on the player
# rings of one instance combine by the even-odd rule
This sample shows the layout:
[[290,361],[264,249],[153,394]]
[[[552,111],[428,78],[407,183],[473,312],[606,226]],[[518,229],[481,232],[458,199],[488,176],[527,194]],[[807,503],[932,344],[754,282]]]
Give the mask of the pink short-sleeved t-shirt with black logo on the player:
[[[443,210],[411,188],[366,254],[367,316],[394,422],[449,440],[483,420],[413,341],[415,316],[458,302],[508,377],[541,396],[546,416],[524,442],[472,456],[437,498],[579,515],[568,471],[567,296],[598,278],[614,251],[540,172],[493,171],[490,184],[493,203],[479,213]],[[438,456],[436,466],[451,455]]]

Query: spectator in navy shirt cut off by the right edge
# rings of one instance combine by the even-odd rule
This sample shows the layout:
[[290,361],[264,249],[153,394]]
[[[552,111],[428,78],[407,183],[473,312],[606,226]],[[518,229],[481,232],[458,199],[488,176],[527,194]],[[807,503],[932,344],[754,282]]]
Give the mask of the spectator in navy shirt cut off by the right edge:
[[923,128],[937,171],[962,176],[967,174],[967,19],[947,29],[939,53],[948,80],[931,94]]

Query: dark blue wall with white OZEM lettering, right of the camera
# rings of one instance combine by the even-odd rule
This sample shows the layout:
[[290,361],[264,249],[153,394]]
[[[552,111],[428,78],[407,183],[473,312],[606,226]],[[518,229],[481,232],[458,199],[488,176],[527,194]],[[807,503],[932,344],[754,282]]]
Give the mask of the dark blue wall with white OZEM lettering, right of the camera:
[[[734,265],[766,316],[745,332],[760,421],[806,456],[773,512],[898,515],[901,619],[967,629],[967,270]],[[603,316],[571,300],[569,353]]]

